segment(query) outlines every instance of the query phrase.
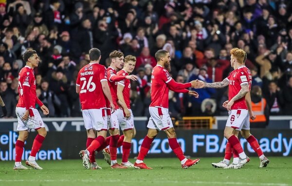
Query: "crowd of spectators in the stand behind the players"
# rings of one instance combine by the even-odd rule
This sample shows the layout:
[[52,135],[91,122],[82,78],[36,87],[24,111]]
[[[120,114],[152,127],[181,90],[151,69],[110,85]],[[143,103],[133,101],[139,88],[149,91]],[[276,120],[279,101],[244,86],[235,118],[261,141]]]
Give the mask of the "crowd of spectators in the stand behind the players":
[[[0,0],[0,95],[16,117],[22,54],[34,49],[37,96],[50,117],[81,116],[75,80],[92,47],[100,63],[122,51],[137,56],[131,100],[134,116],[148,116],[153,57],[171,55],[178,82],[223,80],[233,69],[229,51],[247,52],[253,85],[262,89],[271,115],[292,114],[291,0]],[[199,89],[200,98],[169,92],[169,112],[226,115],[228,90]]]

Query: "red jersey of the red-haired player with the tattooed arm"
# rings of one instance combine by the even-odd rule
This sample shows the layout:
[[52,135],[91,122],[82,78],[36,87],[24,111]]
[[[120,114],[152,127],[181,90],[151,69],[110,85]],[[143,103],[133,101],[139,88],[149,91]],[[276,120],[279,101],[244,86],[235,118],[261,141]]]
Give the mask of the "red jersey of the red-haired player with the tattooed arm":
[[[229,101],[239,93],[241,89],[241,85],[246,83],[249,84],[249,77],[248,73],[245,68],[239,67],[238,69],[232,71],[230,75],[227,77],[229,80]],[[245,97],[241,97],[237,101],[234,102],[233,106],[231,107],[231,110],[237,110],[237,109],[246,109],[247,106],[245,103]]]

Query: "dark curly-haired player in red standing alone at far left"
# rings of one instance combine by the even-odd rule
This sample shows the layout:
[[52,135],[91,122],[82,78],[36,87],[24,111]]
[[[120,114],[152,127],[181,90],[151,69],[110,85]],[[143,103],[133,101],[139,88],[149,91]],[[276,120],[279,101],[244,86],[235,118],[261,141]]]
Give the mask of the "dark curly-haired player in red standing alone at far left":
[[17,130],[19,131],[18,140],[15,144],[15,165],[14,169],[28,169],[21,165],[21,157],[23,153],[24,142],[28,137],[31,129],[37,130],[37,136],[34,140],[33,147],[26,161],[26,165],[35,169],[42,169],[36,162],[36,154],[47,135],[47,130],[36,104],[43,111],[44,115],[49,114],[48,108],[37,98],[36,94],[36,78],[34,68],[38,66],[39,58],[37,52],[28,50],[23,54],[23,60],[26,66],[23,67],[18,74],[18,93],[19,100],[16,106],[16,115],[18,119]]

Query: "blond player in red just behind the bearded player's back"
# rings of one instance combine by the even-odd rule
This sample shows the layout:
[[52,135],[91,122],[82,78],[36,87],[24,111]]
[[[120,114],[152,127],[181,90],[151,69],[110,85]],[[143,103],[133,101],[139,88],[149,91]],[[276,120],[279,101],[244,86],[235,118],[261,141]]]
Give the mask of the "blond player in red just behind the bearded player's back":
[[[124,62],[124,68],[120,70],[117,75],[128,75],[135,69],[136,57],[126,56]],[[118,82],[118,100],[120,108],[117,110],[119,124],[124,133],[123,142],[123,156],[122,166],[134,167],[132,163],[128,161],[128,157],[131,151],[131,141],[135,135],[134,116],[130,107],[130,89],[131,82],[129,79],[125,79]]]

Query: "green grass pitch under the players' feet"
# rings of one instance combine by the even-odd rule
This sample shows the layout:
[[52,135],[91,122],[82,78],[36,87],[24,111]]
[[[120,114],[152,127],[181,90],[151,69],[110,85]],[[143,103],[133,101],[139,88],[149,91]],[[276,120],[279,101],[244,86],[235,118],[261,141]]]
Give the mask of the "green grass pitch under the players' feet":
[[[38,161],[43,170],[13,170],[14,162],[0,162],[0,186],[289,186],[292,157],[270,157],[266,168],[259,160],[241,169],[213,168],[221,158],[201,158],[199,164],[183,169],[175,158],[148,158],[152,170],[111,169],[99,160],[101,170],[86,170],[81,160]],[[134,163],[134,160],[130,160]],[[22,161],[24,164],[24,161]]]

